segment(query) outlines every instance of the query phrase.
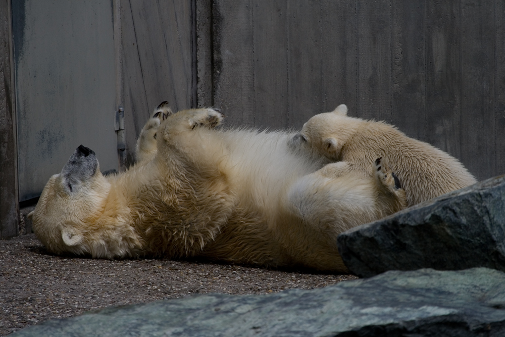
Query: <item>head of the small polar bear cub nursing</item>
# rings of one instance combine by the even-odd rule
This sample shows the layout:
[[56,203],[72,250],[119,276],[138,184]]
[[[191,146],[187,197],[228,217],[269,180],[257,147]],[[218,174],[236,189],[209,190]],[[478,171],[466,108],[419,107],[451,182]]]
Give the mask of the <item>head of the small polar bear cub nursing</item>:
[[316,115],[309,119],[291,140],[298,149],[316,152],[333,161],[339,161],[342,146],[354,132],[356,126],[347,117],[347,106],[339,105],[334,111]]

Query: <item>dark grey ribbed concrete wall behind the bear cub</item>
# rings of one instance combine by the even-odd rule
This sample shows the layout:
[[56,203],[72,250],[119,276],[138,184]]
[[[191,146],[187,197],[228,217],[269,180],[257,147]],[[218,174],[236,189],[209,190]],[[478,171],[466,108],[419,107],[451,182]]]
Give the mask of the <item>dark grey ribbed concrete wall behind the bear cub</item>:
[[503,174],[504,6],[214,0],[207,101],[227,123],[273,128],[345,103],[352,116],[447,151],[479,179]]

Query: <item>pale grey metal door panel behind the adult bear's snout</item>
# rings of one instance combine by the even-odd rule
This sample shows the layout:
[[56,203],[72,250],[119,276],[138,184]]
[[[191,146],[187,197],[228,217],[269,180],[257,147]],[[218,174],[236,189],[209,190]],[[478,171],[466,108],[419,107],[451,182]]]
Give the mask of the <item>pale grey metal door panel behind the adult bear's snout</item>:
[[112,1],[16,0],[12,17],[20,201],[80,144],[117,169]]

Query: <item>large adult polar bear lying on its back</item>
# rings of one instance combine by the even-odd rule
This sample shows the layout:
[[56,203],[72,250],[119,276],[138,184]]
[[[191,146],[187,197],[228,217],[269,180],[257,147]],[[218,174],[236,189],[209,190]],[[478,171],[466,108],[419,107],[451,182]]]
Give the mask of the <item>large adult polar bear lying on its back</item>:
[[380,158],[358,176],[293,149],[292,132],[220,130],[219,111],[166,108],[140,135],[156,149],[139,143],[126,172],[105,177],[81,145],[49,179],[30,215],[49,251],[347,272],[337,235],[406,207]]

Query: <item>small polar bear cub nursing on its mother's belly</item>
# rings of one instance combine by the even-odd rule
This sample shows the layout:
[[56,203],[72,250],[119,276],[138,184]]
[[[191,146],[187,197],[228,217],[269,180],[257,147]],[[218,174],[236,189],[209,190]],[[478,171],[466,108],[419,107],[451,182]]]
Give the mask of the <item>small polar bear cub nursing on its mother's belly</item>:
[[343,161],[365,175],[373,158],[391,163],[409,206],[477,182],[456,159],[413,139],[384,122],[348,117],[347,107],[313,116],[293,139],[293,147],[310,149],[332,161]]

